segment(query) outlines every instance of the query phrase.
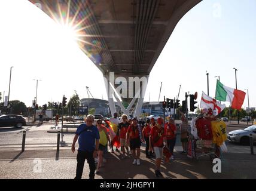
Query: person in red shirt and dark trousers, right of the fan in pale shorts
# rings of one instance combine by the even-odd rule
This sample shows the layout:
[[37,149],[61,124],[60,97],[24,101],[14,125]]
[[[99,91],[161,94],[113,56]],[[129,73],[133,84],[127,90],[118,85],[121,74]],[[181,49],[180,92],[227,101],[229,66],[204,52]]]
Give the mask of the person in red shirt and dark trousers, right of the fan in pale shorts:
[[164,124],[164,138],[166,138],[167,147],[172,153],[170,159],[173,159],[173,149],[176,143],[176,125],[172,118],[169,119],[169,122]]

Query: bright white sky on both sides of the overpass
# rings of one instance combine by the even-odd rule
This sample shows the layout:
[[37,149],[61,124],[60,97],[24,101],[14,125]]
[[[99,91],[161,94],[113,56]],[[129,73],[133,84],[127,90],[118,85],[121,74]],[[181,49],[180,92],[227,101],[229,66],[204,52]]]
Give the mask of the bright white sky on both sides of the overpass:
[[[63,94],[106,100],[105,85],[99,69],[87,58],[63,27],[57,25],[26,0],[0,1],[0,91],[10,100],[32,105],[38,81],[38,103],[61,101]],[[215,97],[215,76],[235,88],[249,89],[250,107],[256,106],[256,1],[208,0],[189,11],[177,24],[157,60],[148,82],[145,101],[157,101],[160,84],[163,96],[185,99],[185,92],[207,93]],[[200,102],[200,101],[199,101]],[[247,96],[244,106],[248,106]]]

